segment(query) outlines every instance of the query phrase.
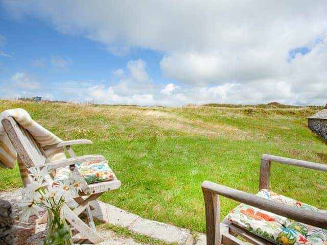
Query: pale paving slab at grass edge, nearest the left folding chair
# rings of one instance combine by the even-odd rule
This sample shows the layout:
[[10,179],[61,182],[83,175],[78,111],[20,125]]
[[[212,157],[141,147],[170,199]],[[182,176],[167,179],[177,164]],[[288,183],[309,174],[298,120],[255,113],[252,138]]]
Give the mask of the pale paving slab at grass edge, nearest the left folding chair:
[[126,212],[123,209],[101,201],[93,201],[91,205],[95,208],[95,210],[92,210],[92,214],[94,214],[98,219],[111,225],[129,227],[137,218],[139,218],[136,214]]

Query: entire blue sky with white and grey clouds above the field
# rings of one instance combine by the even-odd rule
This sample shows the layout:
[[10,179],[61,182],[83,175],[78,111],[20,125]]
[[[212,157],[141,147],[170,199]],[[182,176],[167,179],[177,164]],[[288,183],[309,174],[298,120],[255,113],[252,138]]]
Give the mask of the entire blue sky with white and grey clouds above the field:
[[0,0],[0,98],[327,103],[327,1]]

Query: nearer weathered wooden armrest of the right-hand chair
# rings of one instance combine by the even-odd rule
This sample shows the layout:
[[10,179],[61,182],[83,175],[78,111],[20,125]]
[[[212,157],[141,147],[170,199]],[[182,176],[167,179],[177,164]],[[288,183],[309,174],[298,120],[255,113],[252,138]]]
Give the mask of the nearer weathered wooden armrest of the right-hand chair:
[[[268,212],[275,213],[284,217],[294,219],[298,222],[302,222],[308,225],[316,226],[319,228],[327,229],[327,214],[309,211],[306,209],[295,208],[290,205],[278,203],[276,201],[268,200],[258,197],[256,195],[229,188],[227,186],[219,185],[211,181],[204,181],[202,183],[202,191],[204,194],[204,201],[207,205],[210,205],[213,198],[207,198],[207,192],[212,194],[222,195],[223,197],[236,200],[256,208],[266,210]],[[219,202],[219,199],[218,199]],[[219,205],[218,205],[219,207]],[[213,207],[212,207],[213,208]],[[207,210],[206,210],[207,212]],[[219,210],[217,211],[217,213]]]

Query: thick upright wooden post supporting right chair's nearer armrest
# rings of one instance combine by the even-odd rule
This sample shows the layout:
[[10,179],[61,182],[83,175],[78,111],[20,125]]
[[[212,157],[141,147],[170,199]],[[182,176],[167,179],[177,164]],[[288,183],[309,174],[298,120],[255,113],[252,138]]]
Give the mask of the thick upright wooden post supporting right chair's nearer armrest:
[[[221,244],[219,197],[212,191],[203,190],[206,222],[206,244]],[[217,211],[218,210],[218,211]]]

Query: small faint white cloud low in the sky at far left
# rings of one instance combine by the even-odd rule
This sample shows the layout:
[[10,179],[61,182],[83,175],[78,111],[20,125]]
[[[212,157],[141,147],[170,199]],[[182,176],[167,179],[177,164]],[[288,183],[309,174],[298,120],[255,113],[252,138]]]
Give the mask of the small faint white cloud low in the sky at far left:
[[38,90],[40,88],[40,83],[38,79],[30,74],[17,72],[11,78],[14,86],[22,90]]

